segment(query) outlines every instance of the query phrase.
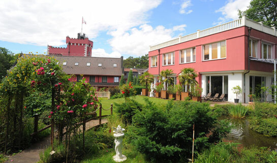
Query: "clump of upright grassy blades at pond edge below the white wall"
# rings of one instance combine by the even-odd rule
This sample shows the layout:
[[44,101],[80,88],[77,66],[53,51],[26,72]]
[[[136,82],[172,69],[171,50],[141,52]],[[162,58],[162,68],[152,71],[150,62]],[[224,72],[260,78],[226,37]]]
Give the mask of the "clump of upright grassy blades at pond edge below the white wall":
[[245,118],[248,113],[248,108],[240,103],[239,105],[230,105],[228,112],[232,118]]

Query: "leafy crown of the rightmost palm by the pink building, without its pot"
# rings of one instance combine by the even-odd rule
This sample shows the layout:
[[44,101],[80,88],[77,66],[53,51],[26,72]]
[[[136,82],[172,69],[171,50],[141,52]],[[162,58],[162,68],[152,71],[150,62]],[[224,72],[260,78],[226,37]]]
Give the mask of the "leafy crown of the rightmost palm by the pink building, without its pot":
[[181,74],[178,76],[179,83],[184,87],[185,85],[196,85],[196,77],[198,76],[197,72],[193,68],[184,68],[181,71]]

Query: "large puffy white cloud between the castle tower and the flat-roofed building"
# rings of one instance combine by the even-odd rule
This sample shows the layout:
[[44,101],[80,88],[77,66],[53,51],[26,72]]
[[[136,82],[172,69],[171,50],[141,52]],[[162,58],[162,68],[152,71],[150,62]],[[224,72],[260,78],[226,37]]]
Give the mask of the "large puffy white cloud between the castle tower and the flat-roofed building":
[[166,29],[164,26],[157,26],[155,29],[151,25],[143,24],[139,29],[133,28],[130,32],[111,33],[113,38],[109,41],[114,51],[141,56],[148,53],[149,45],[156,45],[172,39],[174,31],[184,31],[186,24],[173,26]]

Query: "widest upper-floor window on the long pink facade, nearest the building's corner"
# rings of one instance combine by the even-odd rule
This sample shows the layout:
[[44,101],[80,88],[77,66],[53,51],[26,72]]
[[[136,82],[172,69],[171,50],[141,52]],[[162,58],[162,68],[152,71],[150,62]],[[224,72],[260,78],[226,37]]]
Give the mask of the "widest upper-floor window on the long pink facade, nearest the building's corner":
[[226,41],[203,45],[203,48],[204,61],[226,58]]

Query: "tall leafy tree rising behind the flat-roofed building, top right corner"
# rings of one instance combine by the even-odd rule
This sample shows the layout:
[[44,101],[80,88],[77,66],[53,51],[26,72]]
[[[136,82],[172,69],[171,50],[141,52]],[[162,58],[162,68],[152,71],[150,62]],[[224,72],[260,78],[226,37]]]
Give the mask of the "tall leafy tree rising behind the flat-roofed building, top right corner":
[[238,10],[238,15],[246,15],[254,21],[263,21],[264,25],[277,26],[277,1],[276,0],[252,0],[245,11]]

